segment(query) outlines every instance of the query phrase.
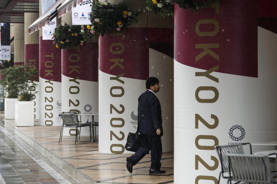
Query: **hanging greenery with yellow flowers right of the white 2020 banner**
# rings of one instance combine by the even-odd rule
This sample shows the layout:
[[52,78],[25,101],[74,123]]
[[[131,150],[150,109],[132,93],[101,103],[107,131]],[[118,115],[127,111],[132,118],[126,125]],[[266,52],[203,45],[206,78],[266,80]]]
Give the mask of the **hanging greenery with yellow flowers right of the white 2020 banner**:
[[91,31],[97,36],[104,36],[107,32],[124,32],[132,23],[138,22],[139,13],[132,12],[126,2],[118,4],[101,3],[93,0],[91,4]]

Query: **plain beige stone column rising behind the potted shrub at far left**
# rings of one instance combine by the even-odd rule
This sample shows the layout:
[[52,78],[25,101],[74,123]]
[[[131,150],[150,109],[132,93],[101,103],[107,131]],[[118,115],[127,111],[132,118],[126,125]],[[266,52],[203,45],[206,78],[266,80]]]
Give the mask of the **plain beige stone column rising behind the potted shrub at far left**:
[[24,24],[14,24],[14,65],[24,65]]

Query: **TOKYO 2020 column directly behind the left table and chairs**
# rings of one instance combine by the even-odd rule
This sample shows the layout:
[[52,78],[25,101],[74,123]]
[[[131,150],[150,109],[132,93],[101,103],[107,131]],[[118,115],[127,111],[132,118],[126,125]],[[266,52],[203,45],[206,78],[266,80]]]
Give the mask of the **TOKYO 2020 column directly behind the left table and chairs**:
[[[72,25],[71,12],[61,17]],[[81,25],[80,25],[81,29]],[[82,122],[91,122],[89,114],[98,113],[98,42],[86,41],[71,49],[62,49],[62,111],[80,111]],[[98,122],[98,117],[94,117]],[[79,131],[78,131],[79,134]],[[75,136],[75,129],[64,128],[63,135]],[[89,127],[81,129],[89,136]]]

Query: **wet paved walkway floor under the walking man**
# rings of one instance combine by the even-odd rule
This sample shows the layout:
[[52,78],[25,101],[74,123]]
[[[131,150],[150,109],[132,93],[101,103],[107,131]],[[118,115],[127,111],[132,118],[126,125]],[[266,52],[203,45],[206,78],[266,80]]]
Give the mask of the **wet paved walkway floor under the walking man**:
[[3,116],[0,114],[0,150],[10,147],[8,153],[12,154],[1,155],[5,165],[1,164],[0,173],[7,183],[173,183],[173,152],[162,156],[166,174],[149,175],[150,154],[130,174],[126,169],[130,154],[102,154],[98,152],[98,141],[74,145],[74,136],[63,136],[59,144],[60,127],[40,126],[39,122],[34,127],[16,127],[14,120]]

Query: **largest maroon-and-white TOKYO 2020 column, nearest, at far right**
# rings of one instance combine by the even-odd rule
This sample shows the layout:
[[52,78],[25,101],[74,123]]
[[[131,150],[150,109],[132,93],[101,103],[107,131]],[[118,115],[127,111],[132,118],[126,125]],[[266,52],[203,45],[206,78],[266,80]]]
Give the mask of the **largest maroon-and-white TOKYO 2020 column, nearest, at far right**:
[[277,138],[277,34],[259,27],[257,7],[175,4],[174,183],[218,183],[215,145]]

